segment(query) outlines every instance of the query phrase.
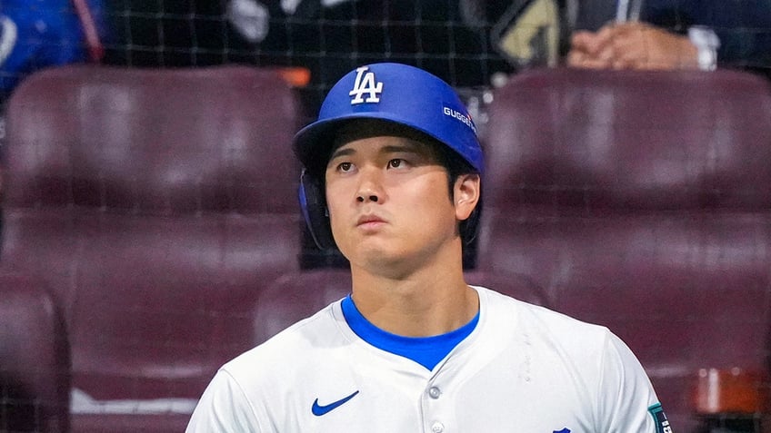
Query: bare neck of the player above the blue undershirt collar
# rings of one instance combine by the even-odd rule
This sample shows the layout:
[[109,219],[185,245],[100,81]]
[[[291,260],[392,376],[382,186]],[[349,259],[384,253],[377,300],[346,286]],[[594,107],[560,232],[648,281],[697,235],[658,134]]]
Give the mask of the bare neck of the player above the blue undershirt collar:
[[476,290],[466,284],[460,259],[437,260],[399,274],[374,273],[352,264],[351,274],[356,308],[377,328],[396,335],[443,334],[462,327],[479,310]]

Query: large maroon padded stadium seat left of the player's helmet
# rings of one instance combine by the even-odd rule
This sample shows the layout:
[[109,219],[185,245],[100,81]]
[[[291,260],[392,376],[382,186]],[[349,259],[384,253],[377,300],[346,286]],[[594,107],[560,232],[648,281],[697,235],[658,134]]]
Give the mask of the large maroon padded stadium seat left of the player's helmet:
[[14,93],[0,262],[60,301],[73,431],[181,431],[255,344],[261,284],[298,268],[301,113],[245,66],[67,66]]

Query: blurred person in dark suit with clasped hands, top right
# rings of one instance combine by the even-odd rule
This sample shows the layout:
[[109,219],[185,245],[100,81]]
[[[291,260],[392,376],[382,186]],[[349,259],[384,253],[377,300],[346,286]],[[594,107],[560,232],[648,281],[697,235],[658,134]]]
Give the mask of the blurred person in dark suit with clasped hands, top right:
[[[613,11],[616,2],[609,3]],[[726,66],[771,71],[769,0],[622,0],[618,5],[628,7],[616,7],[616,18],[604,22],[607,16],[582,14],[579,7],[568,65],[707,71]]]

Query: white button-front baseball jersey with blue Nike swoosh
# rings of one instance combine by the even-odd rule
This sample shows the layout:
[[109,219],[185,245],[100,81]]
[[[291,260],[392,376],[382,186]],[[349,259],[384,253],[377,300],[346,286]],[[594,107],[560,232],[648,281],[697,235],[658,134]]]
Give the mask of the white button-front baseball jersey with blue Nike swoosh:
[[475,289],[476,328],[433,370],[360,339],[337,301],[227,362],[187,432],[671,431],[609,330]]

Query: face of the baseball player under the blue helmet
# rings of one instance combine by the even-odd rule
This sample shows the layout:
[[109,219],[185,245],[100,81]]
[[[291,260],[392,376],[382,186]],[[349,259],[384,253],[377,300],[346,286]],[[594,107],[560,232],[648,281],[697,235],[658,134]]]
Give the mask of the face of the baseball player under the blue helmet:
[[419,266],[458,241],[446,168],[426,143],[353,139],[332,152],[325,181],[335,242],[354,265]]

